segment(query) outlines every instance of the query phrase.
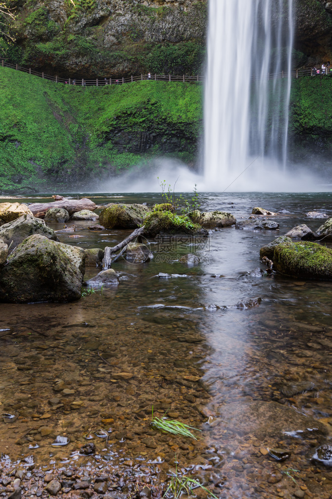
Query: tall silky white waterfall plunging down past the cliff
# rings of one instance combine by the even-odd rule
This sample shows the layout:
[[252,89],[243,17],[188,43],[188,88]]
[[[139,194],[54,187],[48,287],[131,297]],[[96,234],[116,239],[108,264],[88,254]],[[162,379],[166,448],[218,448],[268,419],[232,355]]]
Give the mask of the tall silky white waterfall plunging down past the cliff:
[[[258,165],[285,167],[292,7],[293,0],[209,0],[204,169],[211,190],[236,178],[245,185]],[[274,77],[282,71],[284,78]]]

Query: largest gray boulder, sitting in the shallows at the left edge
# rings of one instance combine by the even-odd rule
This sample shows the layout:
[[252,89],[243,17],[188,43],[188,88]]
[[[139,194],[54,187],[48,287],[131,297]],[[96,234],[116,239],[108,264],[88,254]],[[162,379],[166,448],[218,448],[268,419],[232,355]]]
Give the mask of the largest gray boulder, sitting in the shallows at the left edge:
[[81,297],[85,252],[35,234],[26,238],[0,271],[0,301],[66,302]]

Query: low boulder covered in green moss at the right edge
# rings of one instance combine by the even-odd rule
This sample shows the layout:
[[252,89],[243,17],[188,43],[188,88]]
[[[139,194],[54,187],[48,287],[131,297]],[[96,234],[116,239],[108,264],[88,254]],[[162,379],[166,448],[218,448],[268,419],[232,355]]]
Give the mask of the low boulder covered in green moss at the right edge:
[[332,279],[332,250],[318,243],[285,242],[274,249],[278,272],[302,279]]

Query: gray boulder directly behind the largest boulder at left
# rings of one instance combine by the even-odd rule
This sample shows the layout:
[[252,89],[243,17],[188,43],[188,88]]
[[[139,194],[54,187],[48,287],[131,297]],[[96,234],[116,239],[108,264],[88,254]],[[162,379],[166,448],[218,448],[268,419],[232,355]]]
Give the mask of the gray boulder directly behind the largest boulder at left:
[[0,238],[6,245],[10,245],[11,251],[22,241],[33,234],[40,234],[47,239],[56,241],[57,237],[55,232],[47,227],[45,222],[41,219],[35,218],[33,215],[27,214],[19,217],[18,219],[4,224],[0,227]]

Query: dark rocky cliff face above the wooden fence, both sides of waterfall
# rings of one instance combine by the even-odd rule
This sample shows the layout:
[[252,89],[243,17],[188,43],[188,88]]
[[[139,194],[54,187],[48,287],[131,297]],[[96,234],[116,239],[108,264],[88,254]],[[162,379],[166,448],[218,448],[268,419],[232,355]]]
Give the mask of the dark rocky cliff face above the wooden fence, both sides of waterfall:
[[[332,60],[332,2],[294,2],[295,65]],[[11,0],[18,35],[9,58],[67,77],[204,71],[208,0],[74,3]]]

